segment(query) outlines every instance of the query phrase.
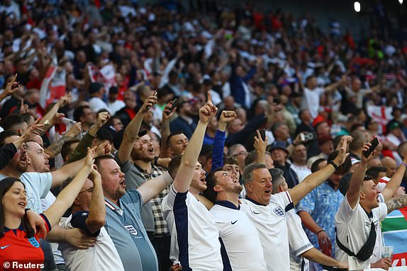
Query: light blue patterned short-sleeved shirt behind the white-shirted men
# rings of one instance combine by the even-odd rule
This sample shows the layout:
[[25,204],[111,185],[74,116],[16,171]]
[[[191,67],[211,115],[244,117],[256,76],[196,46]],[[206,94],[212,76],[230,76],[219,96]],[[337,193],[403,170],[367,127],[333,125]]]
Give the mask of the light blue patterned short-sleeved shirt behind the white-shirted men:
[[[313,220],[328,234],[332,242],[332,252],[335,255],[335,214],[342,203],[340,190],[334,190],[329,180],[308,193],[297,205],[297,212],[306,211]],[[316,248],[319,248],[318,237],[312,231],[305,229],[306,234]]]

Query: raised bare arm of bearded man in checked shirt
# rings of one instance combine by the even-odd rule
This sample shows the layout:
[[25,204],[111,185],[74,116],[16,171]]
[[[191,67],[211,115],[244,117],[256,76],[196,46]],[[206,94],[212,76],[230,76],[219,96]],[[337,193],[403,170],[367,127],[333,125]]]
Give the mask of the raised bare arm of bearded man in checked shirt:
[[155,103],[157,103],[156,96],[150,96],[145,99],[145,102],[140,110],[138,110],[137,115],[135,115],[133,120],[131,120],[124,130],[123,140],[118,149],[118,161],[121,164],[126,163],[130,158],[131,150],[133,149],[135,139],[138,137],[138,132],[140,132],[141,122],[143,122],[144,115],[150,110],[150,108],[152,108],[152,105],[155,105]]

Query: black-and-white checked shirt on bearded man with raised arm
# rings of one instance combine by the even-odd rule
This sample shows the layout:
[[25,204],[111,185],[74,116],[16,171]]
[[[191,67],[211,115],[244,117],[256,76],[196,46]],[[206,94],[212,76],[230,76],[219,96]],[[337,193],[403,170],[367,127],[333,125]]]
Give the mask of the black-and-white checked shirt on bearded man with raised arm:
[[[137,165],[135,165],[137,166]],[[165,168],[162,168],[161,166],[154,166],[151,165],[151,173],[148,173],[147,171],[143,171],[141,168],[140,172],[144,175],[145,180],[150,180],[152,178],[158,177],[162,175],[163,173],[166,172]],[[154,225],[155,225],[155,233],[154,235],[167,235],[169,234],[168,226],[167,226],[167,221],[165,221],[165,218],[162,216],[162,210],[161,210],[161,202],[162,199],[168,194],[169,188],[165,188],[165,190],[162,190],[157,197],[153,198],[150,200],[151,202],[151,207],[152,207],[152,214],[154,215]]]

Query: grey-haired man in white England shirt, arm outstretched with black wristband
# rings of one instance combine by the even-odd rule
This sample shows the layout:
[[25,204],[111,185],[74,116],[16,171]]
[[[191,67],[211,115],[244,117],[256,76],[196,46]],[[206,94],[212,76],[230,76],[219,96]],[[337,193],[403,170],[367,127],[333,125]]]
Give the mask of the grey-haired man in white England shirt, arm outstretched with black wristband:
[[289,191],[272,195],[272,176],[264,164],[246,166],[243,182],[247,196],[241,208],[255,225],[264,250],[267,270],[289,270],[289,238],[286,212],[345,162],[347,139],[340,143],[340,154],[320,171],[308,175]]

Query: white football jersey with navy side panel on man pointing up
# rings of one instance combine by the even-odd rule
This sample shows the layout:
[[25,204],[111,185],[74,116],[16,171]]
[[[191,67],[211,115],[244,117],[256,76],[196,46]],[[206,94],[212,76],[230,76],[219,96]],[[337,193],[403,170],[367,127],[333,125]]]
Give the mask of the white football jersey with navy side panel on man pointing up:
[[222,271],[219,231],[204,204],[171,185],[161,208],[171,232],[169,258],[179,261],[183,270]]

